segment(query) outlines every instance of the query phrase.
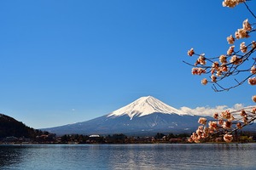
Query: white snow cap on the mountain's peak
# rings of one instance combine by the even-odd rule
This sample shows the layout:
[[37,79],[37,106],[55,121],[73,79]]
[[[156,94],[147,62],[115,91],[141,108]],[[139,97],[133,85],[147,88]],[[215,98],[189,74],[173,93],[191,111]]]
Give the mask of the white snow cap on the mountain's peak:
[[170,105],[166,105],[159,99],[155,99],[152,96],[141,97],[129,105],[125,105],[119,110],[113,111],[108,114],[109,116],[146,116],[152,113],[164,113],[164,114],[177,114],[177,115],[188,115],[183,111],[179,111]]

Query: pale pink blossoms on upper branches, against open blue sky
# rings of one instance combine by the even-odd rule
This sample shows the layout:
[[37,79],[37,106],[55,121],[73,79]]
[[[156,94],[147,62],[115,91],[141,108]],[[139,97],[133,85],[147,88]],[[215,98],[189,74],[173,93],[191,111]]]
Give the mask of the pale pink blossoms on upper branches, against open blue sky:
[[[243,2],[244,1],[230,0],[224,1],[224,4],[230,7],[232,6],[232,4],[237,5],[238,3]],[[246,44],[246,42],[241,42],[240,48],[237,51],[235,50],[234,43],[238,39],[249,37],[249,33],[252,31],[256,31],[256,29],[253,30],[253,27],[249,23],[249,21],[244,20],[242,22],[242,28],[238,29],[235,32],[235,37],[233,37],[232,35],[230,35],[230,37],[227,37],[227,41],[229,42],[229,44],[232,44],[230,48],[228,48],[227,53],[221,54],[218,57],[213,58],[218,59],[216,61],[212,59],[207,59],[205,54],[195,54],[195,49],[190,48],[188,51],[188,55],[198,56],[198,58],[195,60],[196,67],[192,68],[192,74],[202,75],[211,73],[210,80],[207,80],[207,78],[203,78],[201,80],[201,83],[203,85],[207,85],[208,82],[218,83],[218,81],[223,80],[225,77],[229,77],[230,75],[237,75],[239,73],[239,70],[237,70],[238,66],[242,65],[248,60],[248,56],[250,55],[250,53],[256,51],[256,42],[253,41],[250,44]],[[212,65],[207,65],[207,60],[209,60]],[[256,59],[254,60],[256,62]],[[252,75],[256,74],[256,65],[253,65],[250,69],[247,69],[245,71],[250,72]],[[256,85],[256,77],[247,77],[247,79],[250,85]]]

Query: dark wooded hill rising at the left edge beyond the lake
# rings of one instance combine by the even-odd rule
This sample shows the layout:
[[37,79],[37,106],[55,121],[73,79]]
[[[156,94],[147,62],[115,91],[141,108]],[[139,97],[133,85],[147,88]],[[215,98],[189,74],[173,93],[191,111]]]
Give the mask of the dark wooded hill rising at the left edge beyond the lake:
[[0,139],[9,136],[17,138],[35,138],[42,131],[27,127],[23,122],[18,122],[13,117],[0,114]]

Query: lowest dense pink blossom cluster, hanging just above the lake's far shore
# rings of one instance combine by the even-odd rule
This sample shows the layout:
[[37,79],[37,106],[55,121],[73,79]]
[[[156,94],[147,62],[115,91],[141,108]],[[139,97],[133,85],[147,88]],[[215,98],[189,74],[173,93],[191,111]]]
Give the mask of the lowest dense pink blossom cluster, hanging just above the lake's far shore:
[[192,133],[189,142],[200,143],[201,141],[207,140],[215,133],[223,133],[224,141],[228,143],[231,142],[233,139],[231,133],[235,129],[241,129],[243,126],[256,119],[256,107],[241,111],[223,111],[220,114],[214,113],[212,117],[214,120],[208,123],[207,118],[199,118],[198,122],[201,125],[197,128],[195,133]]

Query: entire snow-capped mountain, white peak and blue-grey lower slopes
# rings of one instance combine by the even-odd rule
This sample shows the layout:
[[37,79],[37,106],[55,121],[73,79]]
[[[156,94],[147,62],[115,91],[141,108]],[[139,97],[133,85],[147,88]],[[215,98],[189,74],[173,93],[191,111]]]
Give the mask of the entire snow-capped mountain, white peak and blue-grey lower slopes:
[[191,133],[201,116],[189,115],[152,96],[141,97],[129,105],[86,122],[44,128],[50,133],[149,135],[154,133]]

